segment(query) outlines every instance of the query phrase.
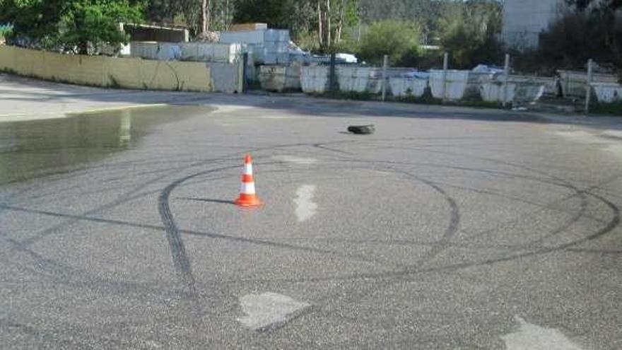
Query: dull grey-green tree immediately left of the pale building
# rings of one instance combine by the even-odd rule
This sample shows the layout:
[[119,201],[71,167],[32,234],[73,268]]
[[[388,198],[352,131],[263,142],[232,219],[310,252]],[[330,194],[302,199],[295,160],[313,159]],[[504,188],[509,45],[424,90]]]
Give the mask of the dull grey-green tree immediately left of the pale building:
[[499,63],[502,6],[494,0],[456,1],[445,6],[439,21],[440,44],[450,52],[452,66],[470,69]]

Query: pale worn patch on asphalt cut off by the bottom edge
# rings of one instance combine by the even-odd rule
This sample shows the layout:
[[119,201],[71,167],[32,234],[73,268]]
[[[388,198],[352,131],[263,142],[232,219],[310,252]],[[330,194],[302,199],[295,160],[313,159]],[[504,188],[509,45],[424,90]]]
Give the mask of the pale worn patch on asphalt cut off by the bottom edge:
[[518,332],[501,337],[505,350],[582,350],[557,329],[532,325],[518,316],[515,320],[520,324]]

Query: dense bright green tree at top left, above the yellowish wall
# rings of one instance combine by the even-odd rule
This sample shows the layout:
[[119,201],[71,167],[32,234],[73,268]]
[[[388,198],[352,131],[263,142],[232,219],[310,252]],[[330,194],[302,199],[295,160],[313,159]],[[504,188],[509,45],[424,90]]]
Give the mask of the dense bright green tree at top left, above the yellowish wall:
[[126,42],[119,22],[140,22],[143,4],[129,0],[4,0],[0,22],[34,46],[88,53],[88,45]]

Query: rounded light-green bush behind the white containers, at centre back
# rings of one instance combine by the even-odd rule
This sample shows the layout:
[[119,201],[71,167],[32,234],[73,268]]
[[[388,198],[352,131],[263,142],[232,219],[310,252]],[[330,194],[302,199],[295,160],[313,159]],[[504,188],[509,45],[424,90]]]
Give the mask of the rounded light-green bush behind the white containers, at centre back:
[[385,20],[372,23],[360,40],[359,57],[372,64],[381,64],[389,55],[392,65],[417,51],[419,29],[409,22]]

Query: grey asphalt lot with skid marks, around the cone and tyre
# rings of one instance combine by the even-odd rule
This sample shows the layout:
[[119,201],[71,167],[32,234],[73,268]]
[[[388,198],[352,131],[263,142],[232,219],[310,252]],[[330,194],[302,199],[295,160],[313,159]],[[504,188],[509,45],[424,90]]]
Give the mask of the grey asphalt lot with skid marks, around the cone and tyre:
[[620,119],[2,91],[3,349],[622,349]]

